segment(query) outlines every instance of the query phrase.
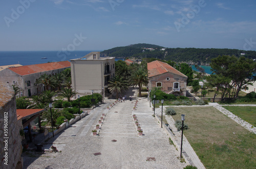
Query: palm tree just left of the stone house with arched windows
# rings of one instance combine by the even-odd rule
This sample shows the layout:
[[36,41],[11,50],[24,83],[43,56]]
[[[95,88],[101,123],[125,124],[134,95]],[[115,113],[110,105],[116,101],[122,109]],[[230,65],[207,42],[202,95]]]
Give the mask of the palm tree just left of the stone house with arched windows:
[[148,76],[147,70],[143,67],[138,68],[131,76],[130,83],[134,86],[139,86],[139,97],[141,97],[142,86],[147,86]]

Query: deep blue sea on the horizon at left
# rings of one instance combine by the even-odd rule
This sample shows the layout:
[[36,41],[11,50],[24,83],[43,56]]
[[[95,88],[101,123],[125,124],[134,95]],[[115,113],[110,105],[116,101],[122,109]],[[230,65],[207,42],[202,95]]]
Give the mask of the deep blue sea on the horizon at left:
[[[0,66],[21,64],[31,65],[47,62],[58,62],[70,59],[81,58],[90,52],[100,51],[74,51],[74,52],[58,52],[58,51],[22,51],[22,52],[0,52]],[[47,59],[41,59],[46,57]],[[115,59],[120,60],[120,59]]]

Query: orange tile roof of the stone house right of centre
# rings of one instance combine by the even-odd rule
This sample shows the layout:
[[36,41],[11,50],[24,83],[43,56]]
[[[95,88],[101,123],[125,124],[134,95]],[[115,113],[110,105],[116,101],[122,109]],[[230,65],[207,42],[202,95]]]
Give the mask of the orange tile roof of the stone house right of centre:
[[148,78],[161,75],[167,72],[187,78],[187,76],[182,74],[180,71],[176,70],[174,67],[158,60],[147,63],[147,71],[148,71]]

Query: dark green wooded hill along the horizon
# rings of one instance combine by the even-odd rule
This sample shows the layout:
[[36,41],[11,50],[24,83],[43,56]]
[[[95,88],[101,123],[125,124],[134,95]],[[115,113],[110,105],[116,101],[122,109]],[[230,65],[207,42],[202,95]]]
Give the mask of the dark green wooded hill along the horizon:
[[[152,48],[152,49],[151,49]],[[165,48],[165,50],[161,50]],[[210,60],[219,55],[234,55],[256,59],[256,51],[244,51],[236,49],[197,49],[197,48],[166,48],[159,45],[138,43],[128,46],[114,47],[101,52],[101,56],[117,58],[158,58],[162,60],[173,60],[186,62],[188,64],[208,65]]]

